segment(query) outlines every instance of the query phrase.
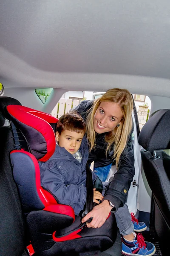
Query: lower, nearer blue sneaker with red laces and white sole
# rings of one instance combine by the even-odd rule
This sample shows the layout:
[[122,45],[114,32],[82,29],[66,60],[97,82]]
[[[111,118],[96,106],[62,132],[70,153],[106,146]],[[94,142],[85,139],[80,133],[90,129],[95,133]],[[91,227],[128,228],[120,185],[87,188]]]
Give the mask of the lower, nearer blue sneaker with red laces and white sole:
[[127,241],[122,237],[122,253],[133,256],[151,256],[155,253],[155,245],[145,242],[142,234],[136,234],[133,241]]

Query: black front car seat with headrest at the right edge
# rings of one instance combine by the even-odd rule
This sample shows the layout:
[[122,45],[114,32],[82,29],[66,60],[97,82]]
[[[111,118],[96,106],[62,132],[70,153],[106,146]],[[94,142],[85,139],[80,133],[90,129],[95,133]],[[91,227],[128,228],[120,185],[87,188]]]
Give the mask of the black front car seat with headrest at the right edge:
[[142,166],[153,194],[154,224],[162,253],[169,255],[170,238],[170,110],[154,113],[139,134]]

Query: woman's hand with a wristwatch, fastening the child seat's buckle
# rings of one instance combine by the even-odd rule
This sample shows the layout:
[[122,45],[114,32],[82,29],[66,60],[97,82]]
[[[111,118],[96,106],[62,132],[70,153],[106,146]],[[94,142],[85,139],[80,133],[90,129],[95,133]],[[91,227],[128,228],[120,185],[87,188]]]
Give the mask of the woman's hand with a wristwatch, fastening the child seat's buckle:
[[87,223],[87,227],[101,227],[108,218],[109,212],[113,207],[109,205],[108,200],[104,200],[101,204],[96,205],[91,212],[82,218],[82,223],[93,217],[90,223]]

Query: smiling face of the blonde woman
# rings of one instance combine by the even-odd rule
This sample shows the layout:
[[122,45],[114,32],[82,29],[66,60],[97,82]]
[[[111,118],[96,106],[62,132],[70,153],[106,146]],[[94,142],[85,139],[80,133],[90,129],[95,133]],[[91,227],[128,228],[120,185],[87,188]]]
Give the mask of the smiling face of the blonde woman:
[[94,131],[98,134],[113,131],[123,117],[119,104],[101,102],[94,114]]

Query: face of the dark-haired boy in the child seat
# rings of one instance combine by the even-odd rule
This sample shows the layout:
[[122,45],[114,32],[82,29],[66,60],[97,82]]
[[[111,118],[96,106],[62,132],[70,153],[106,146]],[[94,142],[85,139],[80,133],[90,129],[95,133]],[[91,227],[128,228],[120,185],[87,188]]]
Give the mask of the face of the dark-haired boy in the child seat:
[[56,132],[56,140],[60,147],[65,148],[69,153],[74,154],[79,150],[84,133],[75,131],[62,131],[61,135]]

